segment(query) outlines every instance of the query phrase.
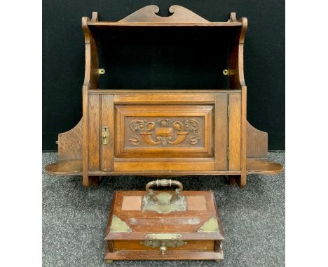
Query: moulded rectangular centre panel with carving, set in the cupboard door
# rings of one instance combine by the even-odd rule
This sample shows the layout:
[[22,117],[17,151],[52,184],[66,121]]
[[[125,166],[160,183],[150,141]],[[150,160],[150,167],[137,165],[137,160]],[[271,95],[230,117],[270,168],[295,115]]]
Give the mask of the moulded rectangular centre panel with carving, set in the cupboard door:
[[213,157],[213,105],[117,105],[116,157]]

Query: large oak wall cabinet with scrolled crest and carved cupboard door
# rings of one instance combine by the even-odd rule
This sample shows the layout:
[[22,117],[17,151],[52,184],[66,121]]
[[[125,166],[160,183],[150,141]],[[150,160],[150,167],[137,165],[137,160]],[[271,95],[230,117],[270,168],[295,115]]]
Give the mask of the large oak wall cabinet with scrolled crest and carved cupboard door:
[[[86,43],[83,118],[58,136],[53,175],[83,175],[89,187],[102,175],[230,175],[245,187],[247,174],[279,173],[268,161],[268,135],[246,118],[243,46],[247,19],[209,22],[182,6],[160,17],[145,6],[118,22],[82,18]],[[222,27],[235,34],[226,70],[228,89],[100,89],[98,35],[106,29]]]

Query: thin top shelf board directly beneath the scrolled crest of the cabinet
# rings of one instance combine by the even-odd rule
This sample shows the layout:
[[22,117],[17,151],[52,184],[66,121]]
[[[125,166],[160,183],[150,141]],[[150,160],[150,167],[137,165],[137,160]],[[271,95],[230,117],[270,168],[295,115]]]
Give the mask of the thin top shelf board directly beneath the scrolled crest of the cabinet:
[[92,27],[241,27],[242,22],[88,22]]

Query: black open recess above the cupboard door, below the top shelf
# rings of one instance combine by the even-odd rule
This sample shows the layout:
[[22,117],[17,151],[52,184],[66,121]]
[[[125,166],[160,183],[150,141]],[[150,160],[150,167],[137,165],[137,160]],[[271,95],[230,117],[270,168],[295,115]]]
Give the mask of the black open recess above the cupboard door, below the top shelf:
[[[128,23],[130,24],[137,25],[137,23]],[[230,76],[224,75],[223,71],[230,69],[229,55],[240,27],[166,27],[166,25],[125,27],[124,30],[116,26],[89,27],[97,36],[99,68],[105,70],[105,73],[99,76],[97,87],[113,89],[233,87]]]

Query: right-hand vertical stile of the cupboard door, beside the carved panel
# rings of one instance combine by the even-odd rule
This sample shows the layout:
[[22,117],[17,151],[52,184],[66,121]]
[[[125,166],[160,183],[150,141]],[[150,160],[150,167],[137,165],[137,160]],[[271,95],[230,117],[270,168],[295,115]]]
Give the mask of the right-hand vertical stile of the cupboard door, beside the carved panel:
[[214,159],[215,170],[223,171],[227,169],[226,147],[228,145],[228,95],[215,96],[215,117],[214,117]]

